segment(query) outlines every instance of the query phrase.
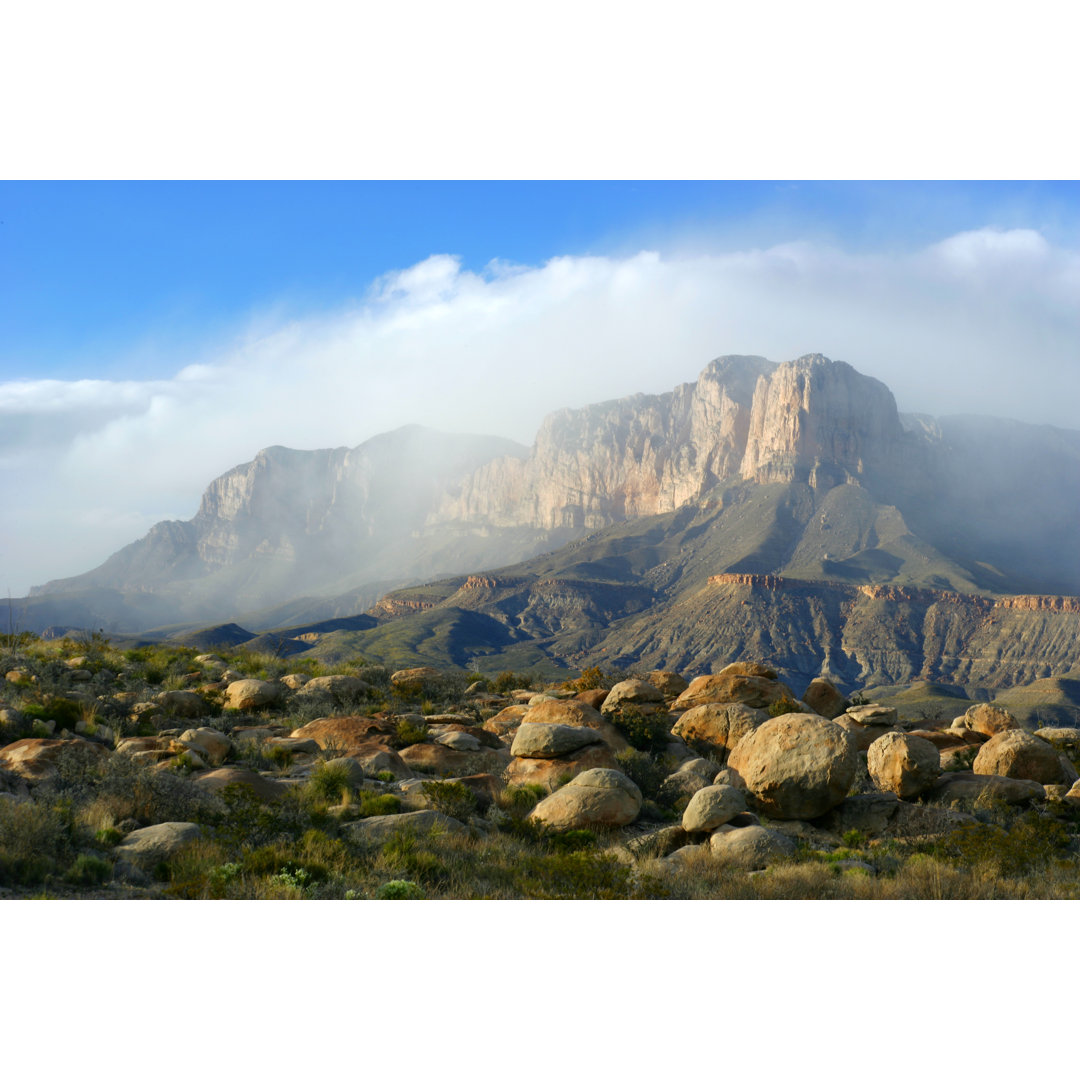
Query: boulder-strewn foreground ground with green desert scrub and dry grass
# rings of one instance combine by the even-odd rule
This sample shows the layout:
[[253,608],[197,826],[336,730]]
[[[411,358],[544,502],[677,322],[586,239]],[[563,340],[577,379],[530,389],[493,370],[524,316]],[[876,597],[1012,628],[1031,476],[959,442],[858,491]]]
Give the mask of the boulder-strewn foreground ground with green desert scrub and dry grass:
[[99,637],[0,674],[8,897],[1080,897],[1080,730],[994,705]]

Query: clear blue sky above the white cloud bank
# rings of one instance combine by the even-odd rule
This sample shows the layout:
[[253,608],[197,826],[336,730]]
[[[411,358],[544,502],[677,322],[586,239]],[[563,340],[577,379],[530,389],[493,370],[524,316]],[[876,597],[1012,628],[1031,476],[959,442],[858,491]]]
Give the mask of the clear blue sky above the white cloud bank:
[[137,377],[433,254],[480,271],[793,240],[909,251],[985,226],[1072,247],[1080,185],[3,183],[0,221],[0,375]]

